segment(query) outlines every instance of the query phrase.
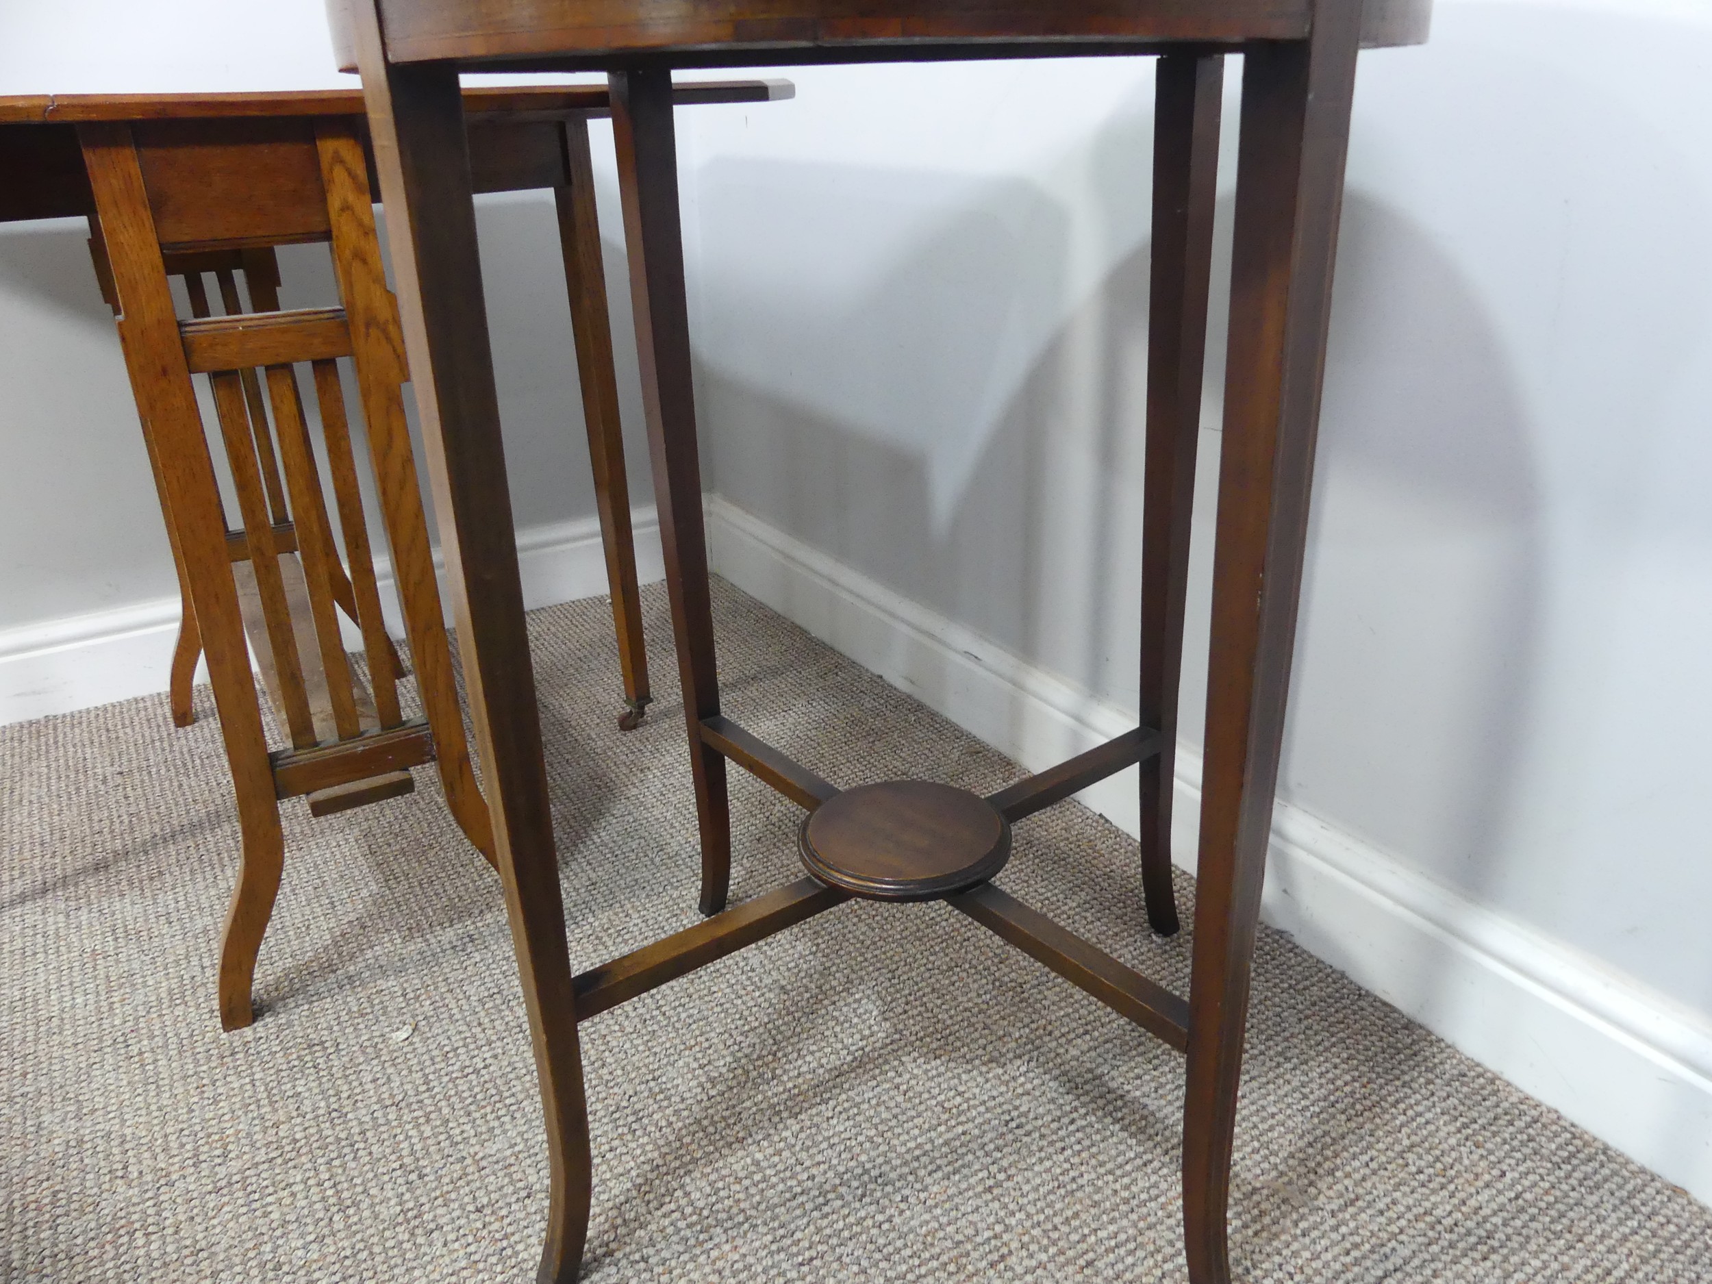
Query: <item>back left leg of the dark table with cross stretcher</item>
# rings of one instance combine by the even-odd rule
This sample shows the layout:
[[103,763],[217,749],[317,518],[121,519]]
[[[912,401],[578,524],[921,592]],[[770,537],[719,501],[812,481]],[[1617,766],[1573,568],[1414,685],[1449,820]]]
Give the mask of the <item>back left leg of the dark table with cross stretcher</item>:
[[731,885],[731,811],[726,760],[700,734],[702,722],[719,716],[719,671],[707,587],[707,534],[702,529],[702,466],[695,445],[690,313],[683,296],[671,72],[613,72],[608,84],[630,252],[642,407],[654,461],[654,498],[690,736],[695,818],[702,832],[700,904],[704,914],[717,914],[726,907]]

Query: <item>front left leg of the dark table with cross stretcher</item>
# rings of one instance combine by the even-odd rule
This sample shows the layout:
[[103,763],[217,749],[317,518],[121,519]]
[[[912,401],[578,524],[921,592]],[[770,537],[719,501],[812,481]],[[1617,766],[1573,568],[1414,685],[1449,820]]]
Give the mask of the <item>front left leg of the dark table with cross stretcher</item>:
[[589,1228],[589,1120],[464,104],[455,68],[387,65],[373,3],[349,12],[546,1123],[551,1186],[538,1279],[568,1284]]

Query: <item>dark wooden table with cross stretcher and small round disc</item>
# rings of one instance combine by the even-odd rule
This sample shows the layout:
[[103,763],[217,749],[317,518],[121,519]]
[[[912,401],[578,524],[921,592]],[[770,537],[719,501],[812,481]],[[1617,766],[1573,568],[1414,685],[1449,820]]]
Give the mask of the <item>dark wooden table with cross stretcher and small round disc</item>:
[[[1229,1279],[1226,1202],[1308,526],[1356,51],[1426,36],[1428,0],[332,0],[360,67],[459,644],[534,1037],[551,1156],[543,1281],[577,1274],[589,1132],[577,1024],[856,897],[942,897],[1188,1056],[1190,1279]],[[1142,871],[1176,930],[1168,806],[1222,58],[1243,53],[1231,325],[1188,1002],[990,880],[1010,825],[1142,764]],[[1159,58],[1142,548],[1142,726],[991,798],[901,781],[841,793],[719,712],[671,113],[676,67]],[[609,75],[705,923],[572,976],[498,406],[461,70]],[[800,803],[808,877],[726,909],[726,762]]]

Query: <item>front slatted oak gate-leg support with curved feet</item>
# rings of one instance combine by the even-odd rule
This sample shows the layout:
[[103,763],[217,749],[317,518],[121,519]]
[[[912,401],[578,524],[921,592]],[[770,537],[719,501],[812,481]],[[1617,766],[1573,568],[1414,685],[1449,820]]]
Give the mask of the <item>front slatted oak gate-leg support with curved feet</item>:
[[[286,146],[301,173],[322,175],[320,192],[270,207],[281,240],[329,240],[344,308],[281,312],[272,252],[245,245],[243,211],[199,204],[212,164],[231,181],[265,187],[281,163],[274,149],[229,146],[207,152],[195,127],[89,125],[84,130],[111,294],[132,385],[142,413],[175,546],[185,570],[190,616],[200,625],[221,729],[238,794],[243,856],[221,940],[219,1008],[228,1029],[253,1019],[257,955],[282,870],[279,801],[305,796],[329,815],[409,793],[411,767],[437,762],[449,806],[493,859],[493,835],[464,741],[462,716],[440,615],[426,522],[404,419],[397,312],[385,288],[353,122],[303,127]],[[175,132],[176,130],[176,132]],[[152,149],[164,147],[163,164]],[[202,159],[199,159],[202,158]],[[243,173],[243,166],[252,171]],[[176,187],[175,187],[176,185]],[[193,193],[185,199],[185,193]],[[200,240],[173,241],[156,224],[193,209]],[[223,231],[235,229],[235,231]],[[221,236],[229,240],[221,245]],[[236,247],[231,241],[238,241]],[[192,317],[173,313],[168,270],[185,277]],[[250,301],[238,298],[243,270]],[[212,315],[204,274],[219,284],[224,315]],[[377,491],[392,539],[404,618],[416,654],[426,717],[406,719],[397,695],[402,664],[382,618],[346,419],[339,360],[351,358],[368,421]],[[332,500],[344,550],[334,539],[327,484],[303,406],[298,365],[306,365],[325,442]],[[260,372],[260,373],[259,373]],[[241,527],[228,529],[192,377],[214,394],[219,440],[231,471]],[[356,623],[370,683],[351,666],[341,613]],[[248,640],[248,645],[247,645]],[[289,736],[269,753],[248,652],[253,651]]]

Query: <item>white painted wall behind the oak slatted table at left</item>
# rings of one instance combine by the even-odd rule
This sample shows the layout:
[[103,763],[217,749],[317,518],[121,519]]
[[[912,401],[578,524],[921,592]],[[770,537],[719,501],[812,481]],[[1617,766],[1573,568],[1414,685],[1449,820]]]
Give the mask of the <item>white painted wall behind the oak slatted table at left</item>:
[[[356,87],[356,77],[334,67],[320,0],[74,0],[0,17],[3,94],[318,87]],[[609,127],[597,122],[601,214],[616,229],[603,134],[609,137]],[[483,197],[478,226],[517,522],[580,524],[594,515],[594,488],[551,193]],[[82,219],[0,224],[0,440],[10,447],[0,469],[0,630],[176,594],[86,236]],[[281,274],[286,306],[336,301],[325,247],[282,250]],[[608,277],[613,322],[627,334],[630,300],[616,241]],[[618,344],[616,360],[625,421],[635,430],[627,438],[633,491],[645,502],[633,348]]]

